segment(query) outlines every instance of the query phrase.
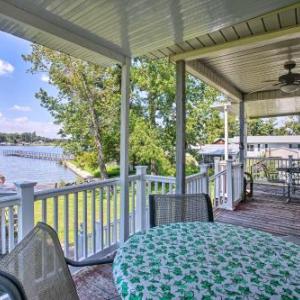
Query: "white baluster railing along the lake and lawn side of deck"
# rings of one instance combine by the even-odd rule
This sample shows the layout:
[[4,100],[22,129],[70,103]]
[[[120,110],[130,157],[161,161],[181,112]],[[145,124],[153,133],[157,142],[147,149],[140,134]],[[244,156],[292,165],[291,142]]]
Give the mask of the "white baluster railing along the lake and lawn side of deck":
[[[175,177],[147,175],[144,166],[136,169],[136,175],[129,176],[130,234],[149,227],[150,194],[175,193]],[[235,172],[234,167],[231,172]],[[214,203],[221,203],[221,195],[228,202],[229,185],[226,176],[228,170],[225,169],[215,176]],[[0,198],[2,254],[11,251],[16,242],[39,221],[51,225],[57,231],[65,255],[75,260],[99,252],[105,254],[117,248],[121,218],[119,178],[35,193],[35,183],[23,182],[16,186],[16,196]],[[209,191],[206,166],[201,167],[200,173],[186,178],[187,193]],[[233,195],[237,193],[238,190],[232,190]],[[215,206],[220,207],[219,204]]]

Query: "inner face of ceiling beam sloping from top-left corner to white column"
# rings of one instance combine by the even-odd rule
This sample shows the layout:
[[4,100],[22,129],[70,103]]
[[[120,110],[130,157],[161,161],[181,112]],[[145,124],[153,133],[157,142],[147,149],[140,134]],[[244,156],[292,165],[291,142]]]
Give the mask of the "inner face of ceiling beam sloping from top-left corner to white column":
[[106,56],[116,62],[125,63],[125,55],[117,46],[49,12],[37,11],[35,5],[30,5],[26,3],[26,1],[23,1],[22,5],[19,5],[16,1],[0,0],[0,14],[22,24],[29,25],[44,33],[51,34],[67,42]]

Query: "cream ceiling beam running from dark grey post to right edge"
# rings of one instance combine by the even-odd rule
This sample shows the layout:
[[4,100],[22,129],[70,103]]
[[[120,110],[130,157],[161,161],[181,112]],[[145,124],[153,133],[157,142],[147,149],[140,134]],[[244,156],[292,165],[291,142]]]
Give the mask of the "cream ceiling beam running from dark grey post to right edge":
[[225,42],[222,44],[203,47],[191,51],[186,51],[171,56],[171,60],[195,60],[204,57],[212,57],[219,55],[226,55],[229,53],[239,52],[254,47],[266,46],[275,42],[281,42],[283,40],[294,39],[300,37],[300,26],[293,26],[284,28],[272,32],[266,32],[263,34],[257,34],[239,40]]

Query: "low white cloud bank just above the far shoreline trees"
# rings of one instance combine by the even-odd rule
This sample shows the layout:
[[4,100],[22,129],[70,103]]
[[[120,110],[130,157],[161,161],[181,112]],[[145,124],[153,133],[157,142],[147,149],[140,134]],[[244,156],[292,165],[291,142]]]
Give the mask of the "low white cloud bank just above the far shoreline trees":
[[22,133],[33,132],[37,135],[56,138],[60,127],[52,122],[40,122],[30,120],[28,117],[6,118],[0,112],[0,132],[5,133]]

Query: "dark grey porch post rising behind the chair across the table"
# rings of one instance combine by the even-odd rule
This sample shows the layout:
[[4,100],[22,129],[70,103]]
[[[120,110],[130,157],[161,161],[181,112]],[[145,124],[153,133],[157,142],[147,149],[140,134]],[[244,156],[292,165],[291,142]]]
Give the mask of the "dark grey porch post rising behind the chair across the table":
[[176,62],[176,193],[185,194],[185,61]]

